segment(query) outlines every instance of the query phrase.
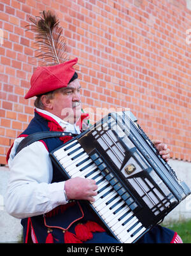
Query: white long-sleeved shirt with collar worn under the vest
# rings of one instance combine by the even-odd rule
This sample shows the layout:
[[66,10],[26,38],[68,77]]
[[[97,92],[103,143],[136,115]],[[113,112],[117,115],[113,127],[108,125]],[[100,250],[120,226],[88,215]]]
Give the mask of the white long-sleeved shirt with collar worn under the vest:
[[[64,131],[80,133],[76,124],[70,124],[45,110],[36,109],[51,116]],[[5,198],[6,211],[15,218],[28,218],[51,211],[60,204],[66,204],[65,181],[51,183],[53,169],[49,153],[42,142],[34,142],[15,151],[23,137],[17,138],[11,149],[8,165],[10,180]]]

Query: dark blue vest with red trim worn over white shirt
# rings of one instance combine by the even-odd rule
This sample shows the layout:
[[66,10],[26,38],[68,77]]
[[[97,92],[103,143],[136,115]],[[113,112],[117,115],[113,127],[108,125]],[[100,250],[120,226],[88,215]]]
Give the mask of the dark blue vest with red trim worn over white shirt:
[[[49,130],[48,121],[35,112],[31,123],[20,136],[30,135],[36,132],[47,132]],[[43,142],[46,144],[48,152],[63,144],[62,140],[59,138],[44,139]],[[52,183],[59,181],[64,181],[64,176],[53,164]],[[74,229],[78,223],[86,223],[88,220],[99,222],[97,216],[93,213],[92,209],[87,206],[86,202],[73,202],[65,206],[69,207],[64,208],[64,210],[57,207],[53,209],[50,214],[22,219],[24,243],[31,242],[31,228],[33,236],[38,243],[46,243],[48,232],[52,233],[53,243],[64,243],[63,229],[66,229],[71,223],[73,224],[69,227],[69,231],[74,234]],[[81,218],[82,216],[83,218]],[[170,243],[173,236],[174,231],[164,229],[157,225],[154,229],[146,233],[138,243]],[[118,243],[118,241],[107,232],[95,232],[93,233],[93,238],[84,243]]]

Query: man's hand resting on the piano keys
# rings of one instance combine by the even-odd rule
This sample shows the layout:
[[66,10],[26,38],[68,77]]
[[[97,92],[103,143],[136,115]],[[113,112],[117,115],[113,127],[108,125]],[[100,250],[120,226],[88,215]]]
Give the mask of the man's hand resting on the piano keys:
[[97,185],[94,179],[85,179],[82,177],[74,177],[68,179],[65,183],[67,199],[88,200],[94,202],[94,196],[97,195]]

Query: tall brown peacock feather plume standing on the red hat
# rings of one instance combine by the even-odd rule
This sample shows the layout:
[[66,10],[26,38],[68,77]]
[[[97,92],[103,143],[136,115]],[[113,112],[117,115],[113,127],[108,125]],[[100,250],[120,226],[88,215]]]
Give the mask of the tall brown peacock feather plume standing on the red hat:
[[[29,19],[33,24],[28,25],[27,30],[34,31],[36,58],[39,59],[42,66],[53,66],[67,61],[66,39],[62,36],[62,27],[59,26],[59,20],[52,11],[42,11],[40,16]],[[27,27],[28,27],[27,26]]]

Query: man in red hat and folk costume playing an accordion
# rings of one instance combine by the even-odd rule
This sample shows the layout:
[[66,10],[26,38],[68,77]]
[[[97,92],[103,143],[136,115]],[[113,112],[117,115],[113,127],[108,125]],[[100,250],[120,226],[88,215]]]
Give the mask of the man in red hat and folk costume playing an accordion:
[[[81,114],[80,82],[73,68],[76,63],[77,58],[37,68],[25,95],[25,98],[37,97],[34,118],[8,152],[10,181],[6,209],[10,215],[22,219],[25,243],[118,243],[83,203],[83,200],[94,202],[95,181],[81,177],[64,181],[49,158],[50,151],[71,137],[39,140],[15,154],[22,139],[32,133],[80,133],[87,116]],[[154,144],[167,161],[166,144],[159,140]],[[156,226],[140,242],[171,243],[175,239],[179,239],[176,232]]]

